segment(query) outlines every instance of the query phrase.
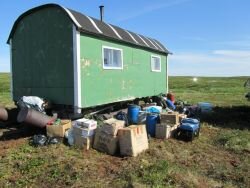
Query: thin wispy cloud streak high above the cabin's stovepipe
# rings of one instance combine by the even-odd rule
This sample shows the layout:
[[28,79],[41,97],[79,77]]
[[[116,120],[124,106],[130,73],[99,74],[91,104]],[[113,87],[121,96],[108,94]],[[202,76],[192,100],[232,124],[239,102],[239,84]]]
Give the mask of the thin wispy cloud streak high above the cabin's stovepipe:
[[121,16],[117,18],[117,22],[131,20],[131,19],[136,18],[138,16],[141,16],[141,15],[144,15],[144,14],[156,11],[156,10],[160,10],[162,8],[166,8],[166,7],[170,7],[170,6],[174,6],[174,5],[179,5],[179,4],[185,3],[187,1],[190,1],[190,0],[170,0],[170,1],[167,1],[167,2],[161,3],[161,4],[156,4],[155,1],[152,1],[153,4],[142,7],[141,9],[137,9],[134,12],[127,12],[126,14],[121,14]]

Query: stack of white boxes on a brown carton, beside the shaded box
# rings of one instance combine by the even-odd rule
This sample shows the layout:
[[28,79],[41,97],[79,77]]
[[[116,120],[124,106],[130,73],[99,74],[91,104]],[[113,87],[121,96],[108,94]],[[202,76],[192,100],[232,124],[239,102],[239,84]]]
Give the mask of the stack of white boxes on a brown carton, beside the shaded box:
[[93,144],[93,138],[97,122],[90,119],[76,120],[73,125],[74,145],[78,148],[89,150]]

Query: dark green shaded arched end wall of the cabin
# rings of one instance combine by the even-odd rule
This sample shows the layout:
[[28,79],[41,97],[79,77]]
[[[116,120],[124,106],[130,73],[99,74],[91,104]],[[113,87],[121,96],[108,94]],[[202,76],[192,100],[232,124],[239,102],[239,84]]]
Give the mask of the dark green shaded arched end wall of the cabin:
[[51,7],[25,16],[12,38],[13,99],[45,97],[74,104],[72,21]]

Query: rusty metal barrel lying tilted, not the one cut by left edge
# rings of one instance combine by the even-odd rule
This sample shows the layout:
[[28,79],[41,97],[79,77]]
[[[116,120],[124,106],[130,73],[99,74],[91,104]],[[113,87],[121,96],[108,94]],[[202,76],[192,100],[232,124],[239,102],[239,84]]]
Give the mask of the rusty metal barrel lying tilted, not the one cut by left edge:
[[56,117],[47,116],[30,108],[22,108],[17,116],[17,122],[25,122],[41,128],[45,127],[48,122],[55,119]]

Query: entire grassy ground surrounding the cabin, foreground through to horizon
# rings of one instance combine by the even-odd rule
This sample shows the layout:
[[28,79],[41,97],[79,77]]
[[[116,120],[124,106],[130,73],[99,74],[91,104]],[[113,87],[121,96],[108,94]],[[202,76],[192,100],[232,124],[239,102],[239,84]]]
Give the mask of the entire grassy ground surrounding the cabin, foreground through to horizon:
[[[13,106],[9,75],[0,74],[0,104]],[[136,158],[64,144],[32,147],[36,130],[0,123],[0,187],[250,187],[250,102],[246,78],[170,77],[176,99],[216,107],[193,142],[150,139]],[[19,128],[17,128],[19,127]]]

